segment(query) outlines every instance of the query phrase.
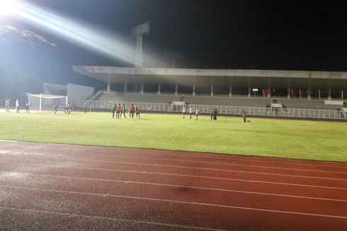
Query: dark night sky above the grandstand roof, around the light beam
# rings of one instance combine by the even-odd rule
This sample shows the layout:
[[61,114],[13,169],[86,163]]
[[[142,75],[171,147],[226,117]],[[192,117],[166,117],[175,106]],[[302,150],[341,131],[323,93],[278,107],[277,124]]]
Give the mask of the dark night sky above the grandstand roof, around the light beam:
[[[129,38],[132,27],[151,21],[144,50],[154,47],[183,52],[184,60],[178,67],[347,70],[347,13],[342,1],[30,2]],[[69,64],[120,65],[13,18],[5,23],[33,30],[56,43]]]

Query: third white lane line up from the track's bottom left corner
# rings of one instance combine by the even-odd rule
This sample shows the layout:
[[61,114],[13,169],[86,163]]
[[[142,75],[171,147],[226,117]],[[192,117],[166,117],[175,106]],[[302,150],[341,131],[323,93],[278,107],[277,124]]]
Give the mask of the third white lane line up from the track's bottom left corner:
[[[77,176],[55,176],[55,175],[47,175],[47,174],[30,174],[30,173],[22,173],[22,172],[14,172],[14,171],[0,171],[0,173],[25,174],[25,175],[31,175],[31,176],[43,176],[43,177],[61,178],[61,179],[78,179],[78,180],[86,180],[86,181],[106,181],[106,182],[115,182],[115,183],[123,183],[123,184],[167,186],[167,187],[174,187],[174,188],[194,188],[194,189],[201,189],[201,190],[207,190],[207,191],[223,191],[223,192],[230,192],[230,193],[246,193],[246,194],[264,195],[264,196],[279,196],[279,197],[302,198],[302,199],[312,199],[312,200],[321,200],[321,201],[347,202],[347,200],[333,199],[333,198],[295,196],[290,194],[278,194],[278,193],[260,193],[255,191],[240,191],[240,190],[231,190],[231,189],[224,189],[224,188],[206,188],[206,187],[198,187],[198,186],[184,186],[184,185],[178,185],[178,184],[160,184],[160,183],[151,183],[151,182],[143,182],[143,181],[122,181],[122,180],[97,179],[97,178],[86,178],[86,177],[77,177]],[[1,180],[1,176],[0,176],[0,180]]]

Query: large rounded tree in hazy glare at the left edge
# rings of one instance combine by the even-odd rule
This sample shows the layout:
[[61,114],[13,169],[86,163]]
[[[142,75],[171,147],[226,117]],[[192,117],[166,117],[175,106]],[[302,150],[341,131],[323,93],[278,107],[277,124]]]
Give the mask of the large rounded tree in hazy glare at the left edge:
[[42,92],[60,74],[57,46],[29,30],[0,27],[0,98]]

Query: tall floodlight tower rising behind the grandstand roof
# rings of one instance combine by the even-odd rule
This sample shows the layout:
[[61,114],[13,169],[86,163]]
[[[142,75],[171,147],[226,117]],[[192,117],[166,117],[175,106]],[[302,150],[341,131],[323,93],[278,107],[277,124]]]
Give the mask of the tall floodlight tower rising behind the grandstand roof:
[[131,30],[132,37],[136,37],[135,67],[142,67],[142,36],[149,33],[149,24],[148,21]]

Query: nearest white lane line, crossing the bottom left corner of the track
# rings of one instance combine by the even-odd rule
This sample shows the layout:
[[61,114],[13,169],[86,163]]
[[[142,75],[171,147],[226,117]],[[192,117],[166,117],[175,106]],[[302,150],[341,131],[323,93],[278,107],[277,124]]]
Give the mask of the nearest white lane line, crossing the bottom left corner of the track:
[[140,223],[140,224],[146,224],[146,225],[151,225],[151,226],[162,225],[162,226],[169,226],[169,227],[181,227],[181,228],[193,229],[193,230],[225,231],[225,230],[212,229],[212,228],[208,228],[208,227],[174,225],[174,224],[167,224],[167,223],[161,223],[161,222],[149,222],[149,221],[142,221],[142,220],[127,220],[127,219],[120,219],[120,218],[106,218],[106,217],[100,217],[100,216],[80,215],[80,214],[76,214],[76,213],[57,213],[57,212],[34,210],[34,209],[28,209],[28,208],[12,208],[12,207],[6,207],[6,206],[0,206],[0,208],[8,209],[8,210],[20,210],[20,211],[29,212],[29,213],[44,213],[44,214],[63,215],[63,216],[77,217],[77,218],[90,218],[90,219],[100,219],[100,220],[111,220],[111,221],[117,221],[117,222]]

